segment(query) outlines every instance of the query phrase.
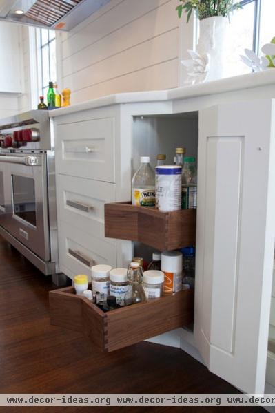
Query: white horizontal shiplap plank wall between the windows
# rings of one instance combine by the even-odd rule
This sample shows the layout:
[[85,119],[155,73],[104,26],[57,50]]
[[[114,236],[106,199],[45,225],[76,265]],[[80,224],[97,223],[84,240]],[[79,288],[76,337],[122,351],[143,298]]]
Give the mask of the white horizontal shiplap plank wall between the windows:
[[177,0],[111,0],[59,38],[72,103],[178,86]]

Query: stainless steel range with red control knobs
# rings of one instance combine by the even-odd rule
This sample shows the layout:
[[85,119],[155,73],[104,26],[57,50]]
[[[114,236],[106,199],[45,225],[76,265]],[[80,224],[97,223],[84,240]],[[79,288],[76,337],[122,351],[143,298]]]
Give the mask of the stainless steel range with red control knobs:
[[0,234],[45,275],[58,273],[54,145],[48,112],[0,120]]

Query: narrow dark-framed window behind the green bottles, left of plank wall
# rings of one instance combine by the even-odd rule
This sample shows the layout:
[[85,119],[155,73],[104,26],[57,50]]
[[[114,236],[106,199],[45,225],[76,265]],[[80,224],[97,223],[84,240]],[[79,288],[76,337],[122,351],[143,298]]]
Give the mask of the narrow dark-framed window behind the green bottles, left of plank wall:
[[49,81],[57,81],[56,36],[54,30],[37,29],[39,94],[46,96]]

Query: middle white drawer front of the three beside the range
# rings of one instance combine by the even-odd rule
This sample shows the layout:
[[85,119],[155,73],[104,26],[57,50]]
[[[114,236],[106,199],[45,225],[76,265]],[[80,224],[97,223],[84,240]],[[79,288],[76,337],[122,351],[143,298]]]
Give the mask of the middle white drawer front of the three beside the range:
[[[72,176],[57,176],[57,211],[61,221],[101,239],[104,235],[104,204],[115,200],[115,185]],[[105,242],[115,241],[105,238]]]

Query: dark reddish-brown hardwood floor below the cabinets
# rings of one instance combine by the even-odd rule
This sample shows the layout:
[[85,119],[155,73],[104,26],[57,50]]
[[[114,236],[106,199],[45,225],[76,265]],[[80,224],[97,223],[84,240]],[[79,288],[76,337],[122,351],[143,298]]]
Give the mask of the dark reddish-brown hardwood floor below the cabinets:
[[[231,385],[185,352],[139,343],[102,354],[77,333],[50,325],[44,277],[0,238],[1,393],[231,393]],[[174,407],[212,412],[215,407]],[[96,412],[170,412],[171,407],[96,407]],[[242,407],[222,407],[223,412]],[[0,407],[1,412],[63,412],[63,407]],[[92,407],[66,407],[88,412]],[[264,412],[246,407],[245,412]]]

